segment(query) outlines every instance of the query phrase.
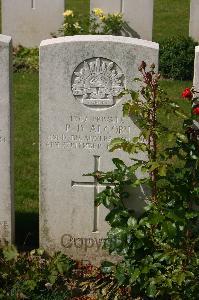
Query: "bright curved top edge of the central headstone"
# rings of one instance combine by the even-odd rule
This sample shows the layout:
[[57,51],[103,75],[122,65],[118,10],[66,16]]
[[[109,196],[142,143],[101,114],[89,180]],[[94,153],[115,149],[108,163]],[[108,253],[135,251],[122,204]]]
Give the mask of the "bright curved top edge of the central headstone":
[[159,44],[137,38],[113,35],[74,35],[43,40],[40,47],[70,42],[115,42],[159,49]]

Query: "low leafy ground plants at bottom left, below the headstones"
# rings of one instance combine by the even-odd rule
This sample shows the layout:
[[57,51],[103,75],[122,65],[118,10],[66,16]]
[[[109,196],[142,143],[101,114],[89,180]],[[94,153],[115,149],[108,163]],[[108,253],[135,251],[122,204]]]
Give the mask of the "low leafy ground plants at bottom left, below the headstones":
[[[42,249],[18,253],[14,246],[0,250],[0,299],[80,300],[108,299],[97,296],[96,284],[107,295],[128,299],[109,274],[90,264],[74,262],[58,252],[47,255]],[[112,287],[106,288],[106,285]]]

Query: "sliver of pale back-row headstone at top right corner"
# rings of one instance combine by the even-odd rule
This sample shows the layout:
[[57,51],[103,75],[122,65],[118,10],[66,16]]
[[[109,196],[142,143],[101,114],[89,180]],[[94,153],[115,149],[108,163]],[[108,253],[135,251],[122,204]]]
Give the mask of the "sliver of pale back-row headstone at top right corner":
[[189,36],[199,41],[199,1],[191,0],[190,3],[190,20],[189,20]]

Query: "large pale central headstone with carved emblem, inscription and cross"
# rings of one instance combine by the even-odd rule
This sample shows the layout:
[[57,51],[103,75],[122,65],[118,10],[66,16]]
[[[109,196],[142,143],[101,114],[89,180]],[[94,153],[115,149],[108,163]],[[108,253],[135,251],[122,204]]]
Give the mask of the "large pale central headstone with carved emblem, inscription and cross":
[[[108,224],[94,199],[104,186],[83,174],[114,168],[112,138],[139,129],[122,114],[124,87],[136,87],[142,60],[158,64],[158,45],[126,37],[74,36],[40,47],[40,245],[98,264]],[[133,199],[140,209],[139,192]]]

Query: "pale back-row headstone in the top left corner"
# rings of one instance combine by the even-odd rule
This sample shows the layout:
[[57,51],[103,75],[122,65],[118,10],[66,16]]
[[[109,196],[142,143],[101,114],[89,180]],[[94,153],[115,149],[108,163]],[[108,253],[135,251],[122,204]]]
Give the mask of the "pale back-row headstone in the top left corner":
[[14,46],[38,47],[63,22],[64,0],[2,0],[2,32]]

